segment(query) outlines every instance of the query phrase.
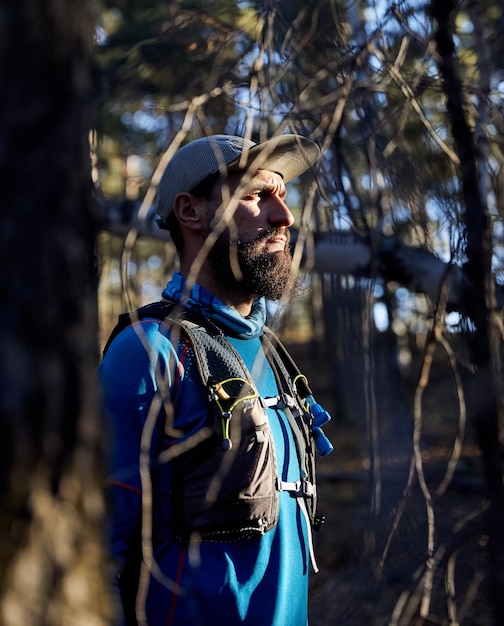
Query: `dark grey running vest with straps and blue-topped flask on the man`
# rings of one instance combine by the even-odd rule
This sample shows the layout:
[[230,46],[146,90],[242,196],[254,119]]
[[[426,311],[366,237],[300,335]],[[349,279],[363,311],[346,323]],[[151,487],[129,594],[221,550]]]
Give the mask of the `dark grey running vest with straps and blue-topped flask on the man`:
[[[330,416],[314,401],[306,377],[265,326],[261,342],[279,395],[262,398],[222,330],[169,301],[120,315],[104,354],[119,332],[147,318],[175,326],[179,341],[189,342],[208,400],[207,427],[201,441],[170,460],[176,539],[233,541],[263,534],[276,525],[278,494],[287,491],[298,500],[307,521],[312,566],[317,571],[311,530],[318,530],[324,518],[316,513],[315,451],[325,456],[332,446],[321,430]],[[295,482],[283,481],[278,475],[268,407],[281,410],[291,427],[300,466]]]

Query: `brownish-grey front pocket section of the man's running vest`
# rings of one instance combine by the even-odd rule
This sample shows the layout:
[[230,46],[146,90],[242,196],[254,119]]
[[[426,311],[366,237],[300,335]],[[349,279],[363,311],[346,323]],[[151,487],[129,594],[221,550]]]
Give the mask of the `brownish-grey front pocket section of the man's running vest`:
[[238,398],[213,402],[215,434],[174,460],[173,521],[179,540],[195,535],[203,541],[241,539],[263,534],[278,521],[271,430],[257,393],[247,391],[243,385]]

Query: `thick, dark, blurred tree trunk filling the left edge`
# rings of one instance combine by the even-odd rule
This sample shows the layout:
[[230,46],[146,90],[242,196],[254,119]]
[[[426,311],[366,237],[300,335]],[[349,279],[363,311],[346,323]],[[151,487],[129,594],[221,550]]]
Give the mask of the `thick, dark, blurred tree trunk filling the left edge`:
[[93,16],[0,8],[0,621],[106,623],[99,525]]

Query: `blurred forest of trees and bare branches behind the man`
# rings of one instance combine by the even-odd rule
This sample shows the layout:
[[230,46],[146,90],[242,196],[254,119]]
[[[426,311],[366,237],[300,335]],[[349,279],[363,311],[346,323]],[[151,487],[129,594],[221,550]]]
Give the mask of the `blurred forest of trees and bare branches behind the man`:
[[[288,185],[305,295],[269,322],[333,416],[310,624],[504,623],[502,2],[102,0],[84,22],[77,7],[66,11],[91,33],[98,100],[97,350],[176,269],[153,205],[177,147],[312,138],[317,169]],[[20,562],[2,569],[11,581]],[[55,606],[75,621],[28,619],[16,585],[6,624],[107,623],[106,601],[79,616],[64,585]]]

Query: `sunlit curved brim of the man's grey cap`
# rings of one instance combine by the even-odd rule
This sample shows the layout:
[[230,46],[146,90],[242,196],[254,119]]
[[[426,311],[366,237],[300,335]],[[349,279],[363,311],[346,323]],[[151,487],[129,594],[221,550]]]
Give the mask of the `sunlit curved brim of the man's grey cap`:
[[240,158],[228,163],[229,170],[270,170],[285,182],[300,176],[320,156],[320,148],[301,135],[278,135],[251,148],[244,148]]

